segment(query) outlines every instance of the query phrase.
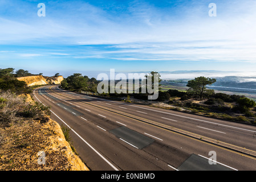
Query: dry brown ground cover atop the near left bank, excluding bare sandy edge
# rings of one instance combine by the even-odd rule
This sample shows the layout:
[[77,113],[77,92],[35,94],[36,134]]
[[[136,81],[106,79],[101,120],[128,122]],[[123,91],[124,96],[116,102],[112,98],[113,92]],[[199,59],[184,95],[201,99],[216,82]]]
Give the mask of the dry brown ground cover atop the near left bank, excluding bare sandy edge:
[[[54,135],[43,127],[43,123],[23,121],[15,123],[6,129],[0,128],[2,135],[0,149],[0,170],[28,171],[28,170],[69,170],[67,156],[62,150],[47,150]],[[46,164],[38,163],[38,152],[44,151]]]

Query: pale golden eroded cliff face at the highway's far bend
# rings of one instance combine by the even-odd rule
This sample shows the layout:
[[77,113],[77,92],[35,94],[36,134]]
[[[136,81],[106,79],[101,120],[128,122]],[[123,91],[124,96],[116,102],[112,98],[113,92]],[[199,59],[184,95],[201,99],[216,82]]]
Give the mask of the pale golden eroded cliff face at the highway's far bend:
[[25,76],[25,77],[18,77],[19,81],[25,81],[27,86],[33,85],[48,85],[48,84],[55,84],[58,85],[63,80],[63,76],[58,77],[44,77],[42,75],[38,76]]

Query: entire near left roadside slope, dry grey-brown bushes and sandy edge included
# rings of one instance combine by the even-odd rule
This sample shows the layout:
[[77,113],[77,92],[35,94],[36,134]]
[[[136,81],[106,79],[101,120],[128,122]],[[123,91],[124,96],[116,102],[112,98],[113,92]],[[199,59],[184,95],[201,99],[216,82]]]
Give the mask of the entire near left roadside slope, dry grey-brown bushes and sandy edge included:
[[[48,107],[25,100],[0,93],[0,171],[88,170],[58,123],[46,115]],[[40,151],[45,154],[44,164],[38,162]]]

